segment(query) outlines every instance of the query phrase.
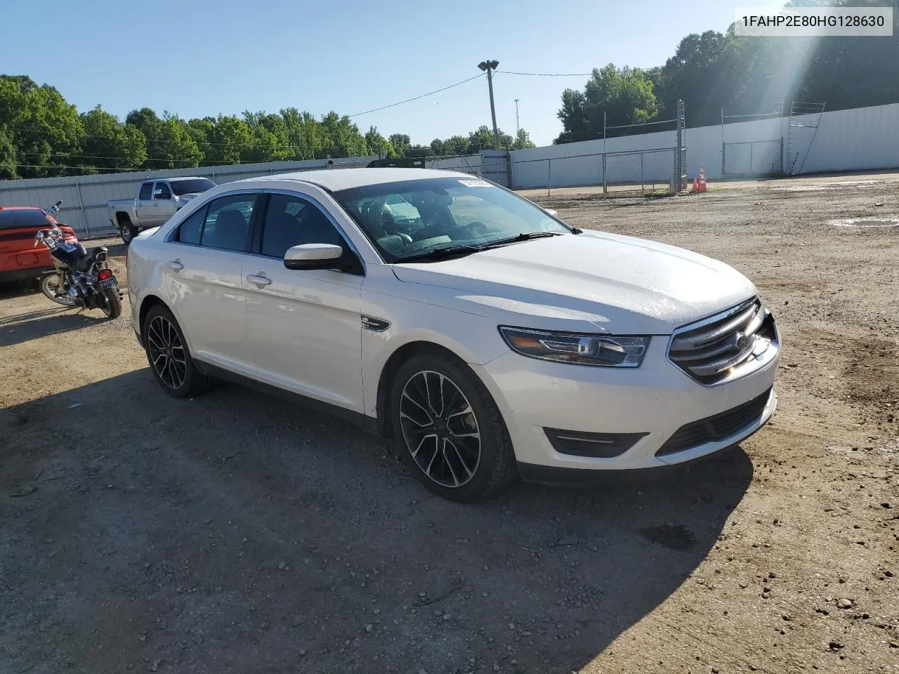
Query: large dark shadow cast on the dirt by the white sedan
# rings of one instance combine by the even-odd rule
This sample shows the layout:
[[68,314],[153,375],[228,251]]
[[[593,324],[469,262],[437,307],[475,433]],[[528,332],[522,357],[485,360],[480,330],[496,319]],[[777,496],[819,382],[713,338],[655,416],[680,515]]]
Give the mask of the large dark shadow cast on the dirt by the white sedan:
[[174,400],[146,368],[0,411],[0,435],[14,671],[567,674],[689,578],[752,480],[737,449],[459,505],[348,423],[239,386]]

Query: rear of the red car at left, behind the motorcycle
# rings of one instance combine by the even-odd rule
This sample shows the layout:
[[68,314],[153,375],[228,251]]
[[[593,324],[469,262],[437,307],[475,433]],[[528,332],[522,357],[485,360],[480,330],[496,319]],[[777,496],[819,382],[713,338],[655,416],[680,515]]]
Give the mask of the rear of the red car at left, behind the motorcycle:
[[[45,246],[34,246],[34,235],[48,225],[58,225],[43,208],[0,206],[0,282],[37,279],[53,267]],[[67,241],[76,242],[75,231],[58,225]]]

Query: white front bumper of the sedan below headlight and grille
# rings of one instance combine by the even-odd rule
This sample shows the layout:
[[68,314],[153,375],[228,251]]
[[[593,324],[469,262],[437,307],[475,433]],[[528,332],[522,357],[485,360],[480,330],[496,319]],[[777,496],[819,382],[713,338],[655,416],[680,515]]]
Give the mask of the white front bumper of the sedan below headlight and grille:
[[[472,367],[503,413],[522,476],[538,475],[533,479],[541,482],[547,480],[539,475],[557,471],[539,468],[629,471],[692,461],[736,444],[770,419],[777,406],[772,386],[779,353],[746,377],[721,386],[702,386],[667,359],[667,347],[667,338],[654,337],[639,368],[553,363],[512,351]],[[722,439],[671,453],[663,450],[656,456],[685,424],[734,410],[762,396],[766,398],[760,404],[761,412]],[[644,435],[619,456],[583,457],[556,451],[546,429]]]

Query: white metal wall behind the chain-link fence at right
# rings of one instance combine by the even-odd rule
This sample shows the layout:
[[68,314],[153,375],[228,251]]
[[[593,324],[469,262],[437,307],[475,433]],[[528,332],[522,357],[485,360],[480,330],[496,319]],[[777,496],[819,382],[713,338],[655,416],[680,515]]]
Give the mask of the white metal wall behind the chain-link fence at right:
[[[687,175],[690,179],[696,177],[701,165],[706,170],[708,180],[720,180],[722,143],[753,141],[758,142],[753,150],[761,155],[753,154],[751,168],[748,167],[748,156],[745,157],[748,171],[757,175],[769,173],[770,164],[774,160],[771,153],[774,150],[771,148],[773,144],[768,145],[764,141],[779,141],[783,137],[786,153],[788,125],[789,118],[785,117],[726,124],[723,134],[720,125],[687,129]],[[794,153],[807,153],[802,173],[899,168],[899,103],[824,112],[817,133],[813,129],[798,133],[796,131],[794,129],[791,149]],[[609,138],[605,144],[602,139],[597,139],[514,150],[511,153],[512,184],[516,189],[547,187],[547,184],[553,187],[596,185],[602,182],[603,152],[627,152],[675,145],[675,132],[662,131]],[[728,146],[728,152],[748,154],[748,150],[733,146]],[[552,158],[551,163],[547,161],[549,158]],[[784,159],[786,162],[787,157]],[[797,169],[798,167],[799,164],[796,165]],[[633,175],[616,175],[614,182],[640,182],[636,163],[633,163],[630,171]]]

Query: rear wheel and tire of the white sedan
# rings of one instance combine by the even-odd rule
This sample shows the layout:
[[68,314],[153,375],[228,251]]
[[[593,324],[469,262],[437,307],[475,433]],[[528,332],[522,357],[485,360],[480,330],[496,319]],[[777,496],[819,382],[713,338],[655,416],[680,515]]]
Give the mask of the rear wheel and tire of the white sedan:
[[[209,390],[209,377],[191,359],[181,326],[165,306],[152,307],[140,328],[147,350],[147,362],[156,383],[174,398],[200,395]],[[166,346],[171,348],[166,350]],[[178,356],[182,358],[179,366]],[[163,359],[166,359],[163,362]],[[169,368],[165,369],[166,364]]]

